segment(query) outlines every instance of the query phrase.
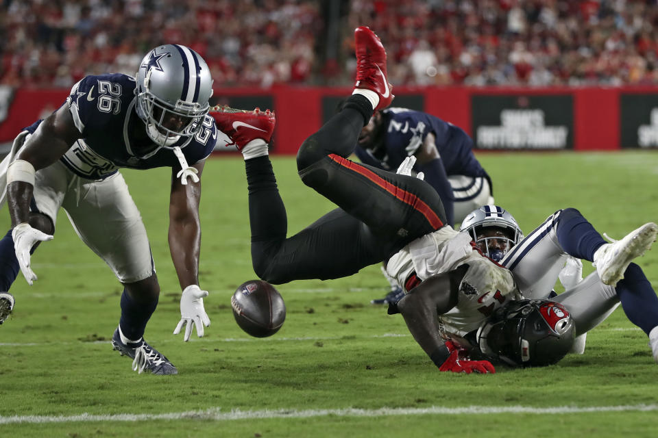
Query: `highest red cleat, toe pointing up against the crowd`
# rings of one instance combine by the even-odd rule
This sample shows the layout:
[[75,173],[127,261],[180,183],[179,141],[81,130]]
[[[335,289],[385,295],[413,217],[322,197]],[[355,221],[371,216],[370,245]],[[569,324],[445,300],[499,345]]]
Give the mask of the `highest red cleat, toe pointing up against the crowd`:
[[356,47],[356,83],[354,88],[371,90],[379,95],[379,104],[374,110],[391,105],[393,86],[386,73],[386,50],[369,27],[361,26],[354,30]]

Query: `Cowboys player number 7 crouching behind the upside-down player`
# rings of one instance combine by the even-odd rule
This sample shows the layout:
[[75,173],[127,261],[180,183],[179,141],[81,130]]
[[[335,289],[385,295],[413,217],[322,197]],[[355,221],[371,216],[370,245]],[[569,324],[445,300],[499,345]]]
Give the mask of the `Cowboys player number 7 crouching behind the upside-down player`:
[[[472,147],[473,140],[451,123],[424,112],[391,107],[373,114],[361,129],[354,153],[365,164],[392,171],[406,157],[415,156],[414,170],[423,172],[425,181],[441,196],[452,225],[480,205],[493,203],[491,178]],[[396,302],[404,296],[385,276],[391,290],[385,298],[371,300],[373,304]]]

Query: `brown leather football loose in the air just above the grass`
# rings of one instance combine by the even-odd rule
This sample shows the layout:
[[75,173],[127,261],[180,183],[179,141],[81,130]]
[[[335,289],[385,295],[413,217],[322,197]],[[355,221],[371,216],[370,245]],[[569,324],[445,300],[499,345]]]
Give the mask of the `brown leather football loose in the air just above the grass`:
[[286,319],[281,294],[267,281],[245,281],[231,297],[233,316],[241,329],[254,337],[278,332]]

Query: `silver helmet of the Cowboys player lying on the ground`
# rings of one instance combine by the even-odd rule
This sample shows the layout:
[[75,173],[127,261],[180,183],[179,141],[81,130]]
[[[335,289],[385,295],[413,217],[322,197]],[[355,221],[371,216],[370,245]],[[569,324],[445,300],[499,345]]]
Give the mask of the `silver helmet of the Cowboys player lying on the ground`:
[[[502,231],[503,235],[482,237],[487,230]],[[511,214],[498,205],[483,205],[471,211],[461,222],[459,231],[469,233],[473,242],[493,261],[500,261],[507,251],[523,239],[523,232]],[[504,242],[501,246],[499,242]]]

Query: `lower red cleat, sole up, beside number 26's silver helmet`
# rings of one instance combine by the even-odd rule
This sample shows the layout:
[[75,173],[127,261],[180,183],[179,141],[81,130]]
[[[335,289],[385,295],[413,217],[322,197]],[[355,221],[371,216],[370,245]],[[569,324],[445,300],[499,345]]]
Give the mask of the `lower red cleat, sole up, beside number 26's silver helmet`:
[[[228,105],[210,108],[210,116],[215,119],[217,128],[233,140],[232,144],[241,151],[247,143],[257,138],[269,143],[274,132],[276,117],[270,110],[236,110]],[[230,145],[228,145],[230,146]]]

